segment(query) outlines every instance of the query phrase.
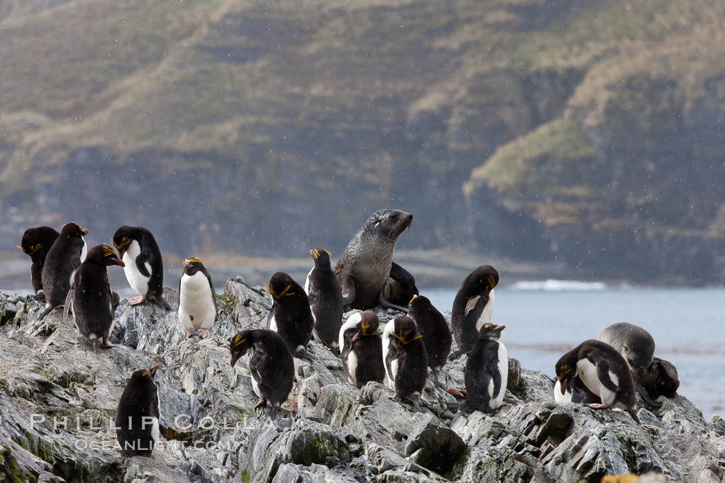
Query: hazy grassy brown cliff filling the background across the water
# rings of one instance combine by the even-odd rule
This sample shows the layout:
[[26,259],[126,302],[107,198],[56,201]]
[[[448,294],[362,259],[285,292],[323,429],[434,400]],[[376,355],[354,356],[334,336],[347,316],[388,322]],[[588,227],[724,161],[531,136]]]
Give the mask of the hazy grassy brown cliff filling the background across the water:
[[0,6],[0,245],[75,220],[192,253],[408,248],[725,281],[711,0]]

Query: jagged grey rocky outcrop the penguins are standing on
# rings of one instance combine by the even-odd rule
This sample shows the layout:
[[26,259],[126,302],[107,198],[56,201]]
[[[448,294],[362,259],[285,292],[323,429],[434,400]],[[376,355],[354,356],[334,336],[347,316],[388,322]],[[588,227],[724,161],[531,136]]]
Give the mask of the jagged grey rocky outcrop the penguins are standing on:
[[[175,300],[167,290],[167,301]],[[663,480],[719,482],[725,422],[703,420],[679,396],[637,426],[622,411],[593,411],[552,400],[552,381],[510,364],[508,397],[492,415],[456,413],[428,382],[423,411],[384,385],[361,390],[317,340],[312,362],[295,360],[296,382],[283,416],[254,413],[247,357],[232,368],[228,337],[259,327],[270,302],[261,287],[229,280],[212,337],[185,339],[174,311],[129,306],[116,313],[115,348],[94,350],[72,321],[0,293],[0,476],[43,482],[598,482],[634,473]],[[378,311],[388,322],[394,311]],[[464,358],[465,359],[465,358]],[[160,364],[162,442],[154,458],[121,458],[112,421],[134,369]],[[442,381],[463,386],[465,360]],[[0,478],[1,479],[1,478]]]

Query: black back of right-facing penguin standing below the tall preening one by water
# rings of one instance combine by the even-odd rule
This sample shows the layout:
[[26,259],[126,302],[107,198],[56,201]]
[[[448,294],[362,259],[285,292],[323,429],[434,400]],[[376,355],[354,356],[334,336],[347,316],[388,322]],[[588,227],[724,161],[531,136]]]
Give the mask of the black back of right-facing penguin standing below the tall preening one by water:
[[[489,381],[494,383],[494,396],[502,385],[498,367],[499,343],[495,340],[477,340],[465,363],[465,404],[476,411],[490,413]],[[505,390],[505,388],[504,388]]]

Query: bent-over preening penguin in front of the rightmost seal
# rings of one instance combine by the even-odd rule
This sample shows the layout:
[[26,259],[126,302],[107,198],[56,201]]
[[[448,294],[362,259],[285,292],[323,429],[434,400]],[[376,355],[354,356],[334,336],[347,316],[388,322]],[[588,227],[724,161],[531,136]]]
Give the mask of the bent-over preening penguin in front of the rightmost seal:
[[600,397],[601,403],[589,403],[593,409],[622,408],[631,414],[637,424],[637,396],[634,378],[624,357],[615,348],[600,340],[585,340],[556,363],[556,377],[560,392],[579,376],[590,391]]

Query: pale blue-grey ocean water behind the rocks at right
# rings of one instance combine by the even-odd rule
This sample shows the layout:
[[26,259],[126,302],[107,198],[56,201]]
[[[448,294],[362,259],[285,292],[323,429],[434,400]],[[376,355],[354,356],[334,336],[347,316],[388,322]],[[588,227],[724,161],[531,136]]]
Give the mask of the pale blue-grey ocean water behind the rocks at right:
[[[457,289],[421,290],[450,310]],[[505,324],[502,341],[526,369],[554,377],[567,350],[614,322],[647,329],[655,356],[671,361],[679,394],[705,419],[725,416],[725,288],[608,288],[566,282],[526,282],[496,289],[492,322]]]

